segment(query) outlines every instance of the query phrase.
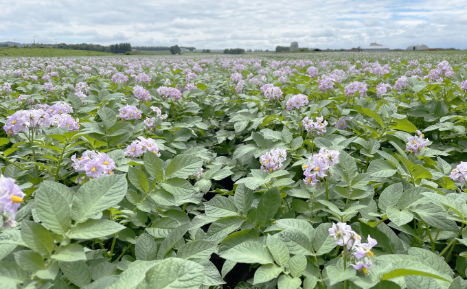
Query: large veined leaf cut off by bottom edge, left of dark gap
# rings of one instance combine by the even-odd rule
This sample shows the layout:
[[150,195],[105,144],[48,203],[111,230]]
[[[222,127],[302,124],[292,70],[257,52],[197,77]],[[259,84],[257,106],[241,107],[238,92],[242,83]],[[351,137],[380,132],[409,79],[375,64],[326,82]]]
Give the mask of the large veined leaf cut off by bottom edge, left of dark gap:
[[138,289],[198,289],[204,278],[204,266],[186,259],[168,258],[146,272]]

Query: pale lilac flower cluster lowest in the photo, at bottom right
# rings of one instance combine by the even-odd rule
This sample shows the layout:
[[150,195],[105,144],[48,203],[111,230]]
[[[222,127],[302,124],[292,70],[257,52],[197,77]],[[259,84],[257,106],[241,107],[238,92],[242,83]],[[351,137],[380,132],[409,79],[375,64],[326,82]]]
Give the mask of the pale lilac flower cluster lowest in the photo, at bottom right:
[[343,246],[348,251],[350,256],[344,255],[344,257],[350,257],[354,269],[362,270],[363,273],[367,274],[367,270],[373,266],[373,262],[368,257],[373,256],[371,250],[378,242],[368,235],[368,242],[362,243],[360,235],[353,231],[352,227],[347,223],[343,222],[332,224],[332,228],[329,229],[329,235],[334,237],[336,244]]

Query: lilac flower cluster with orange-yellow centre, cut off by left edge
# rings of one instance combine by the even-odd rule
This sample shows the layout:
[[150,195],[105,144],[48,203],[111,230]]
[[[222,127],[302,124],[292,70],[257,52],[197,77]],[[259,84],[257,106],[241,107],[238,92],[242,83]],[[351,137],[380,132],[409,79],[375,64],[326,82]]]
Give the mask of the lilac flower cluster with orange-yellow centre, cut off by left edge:
[[3,218],[3,227],[16,226],[14,217],[19,205],[23,203],[24,196],[19,185],[14,183],[14,178],[5,178],[3,174],[0,176],[0,217]]

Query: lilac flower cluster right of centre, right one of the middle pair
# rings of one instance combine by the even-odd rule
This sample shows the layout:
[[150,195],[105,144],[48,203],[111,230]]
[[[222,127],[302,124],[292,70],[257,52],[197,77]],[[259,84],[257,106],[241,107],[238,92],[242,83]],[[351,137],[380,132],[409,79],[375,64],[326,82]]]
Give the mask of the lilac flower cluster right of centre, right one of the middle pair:
[[308,157],[308,161],[302,167],[304,170],[304,183],[314,187],[318,181],[317,178],[324,178],[326,171],[339,162],[339,152],[337,150],[328,150],[321,148],[317,154]]

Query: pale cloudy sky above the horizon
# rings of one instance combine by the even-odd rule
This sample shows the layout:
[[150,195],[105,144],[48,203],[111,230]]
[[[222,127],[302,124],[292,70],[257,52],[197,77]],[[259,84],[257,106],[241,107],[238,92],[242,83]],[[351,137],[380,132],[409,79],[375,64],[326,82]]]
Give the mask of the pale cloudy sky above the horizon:
[[467,1],[0,0],[0,42],[467,49]]

